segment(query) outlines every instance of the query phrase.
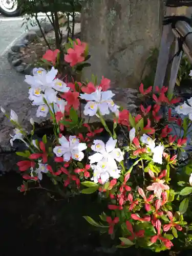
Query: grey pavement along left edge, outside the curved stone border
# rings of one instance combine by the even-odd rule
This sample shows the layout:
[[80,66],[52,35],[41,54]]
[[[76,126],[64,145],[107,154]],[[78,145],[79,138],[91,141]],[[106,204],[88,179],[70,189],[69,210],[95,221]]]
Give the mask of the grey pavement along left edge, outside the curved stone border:
[[[28,100],[28,85],[24,82],[25,76],[13,70],[6,58],[7,50],[25,31],[21,28],[22,23],[22,18],[0,15],[0,105],[8,112],[10,109],[15,110],[20,122],[26,125],[30,116],[34,115]],[[7,144],[11,127],[10,122],[0,113],[0,145]]]

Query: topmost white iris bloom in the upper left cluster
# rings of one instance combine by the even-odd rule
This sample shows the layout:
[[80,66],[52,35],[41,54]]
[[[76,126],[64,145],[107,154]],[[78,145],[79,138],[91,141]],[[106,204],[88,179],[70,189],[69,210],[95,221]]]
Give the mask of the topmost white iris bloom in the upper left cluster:
[[25,82],[27,82],[31,87],[41,88],[41,90],[45,90],[46,88],[51,88],[55,86],[54,79],[57,73],[58,70],[54,67],[52,67],[52,69],[48,72],[42,68],[34,69],[33,76],[25,76]]

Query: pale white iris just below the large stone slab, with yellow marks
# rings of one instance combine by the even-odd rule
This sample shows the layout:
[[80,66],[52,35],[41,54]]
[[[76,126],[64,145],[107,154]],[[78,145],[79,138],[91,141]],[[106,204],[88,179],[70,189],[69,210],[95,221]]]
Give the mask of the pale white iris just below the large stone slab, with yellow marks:
[[110,114],[110,110],[117,112],[118,106],[112,100],[114,95],[112,91],[101,92],[100,89],[91,94],[80,94],[81,99],[89,101],[84,107],[84,115],[94,116],[98,110],[102,116]]

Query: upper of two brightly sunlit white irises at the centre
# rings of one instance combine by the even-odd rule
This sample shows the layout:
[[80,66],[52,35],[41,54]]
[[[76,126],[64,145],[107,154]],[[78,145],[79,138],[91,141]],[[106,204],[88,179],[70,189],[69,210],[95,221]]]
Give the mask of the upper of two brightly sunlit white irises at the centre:
[[123,152],[121,152],[120,148],[115,148],[117,140],[111,137],[106,142],[106,145],[102,140],[94,140],[93,142],[94,144],[91,148],[97,153],[89,157],[90,163],[102,164],[102,161],[105,160],[110,168],[117,169],[116,161],[120,162],[123,160]]

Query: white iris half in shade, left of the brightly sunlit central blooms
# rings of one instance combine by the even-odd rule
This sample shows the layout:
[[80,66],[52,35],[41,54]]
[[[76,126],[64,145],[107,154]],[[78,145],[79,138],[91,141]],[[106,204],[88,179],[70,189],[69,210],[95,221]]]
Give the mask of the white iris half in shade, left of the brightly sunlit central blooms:
[[56,146],[53,152],[57,157],[62,157],[63,160],[68,162],[71,158],[81,161],[84,158],[83,150],[86,150],[86,143],[79,143],[79,139],[76,136],[69,136],[69,140],[65,136],[59,138],[61,146]]

